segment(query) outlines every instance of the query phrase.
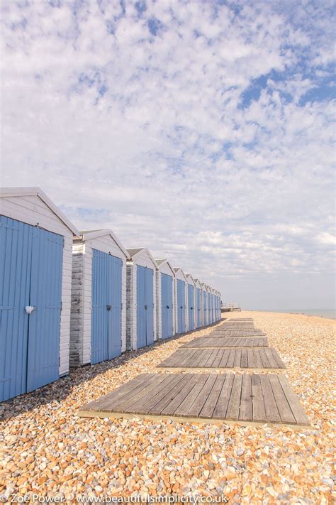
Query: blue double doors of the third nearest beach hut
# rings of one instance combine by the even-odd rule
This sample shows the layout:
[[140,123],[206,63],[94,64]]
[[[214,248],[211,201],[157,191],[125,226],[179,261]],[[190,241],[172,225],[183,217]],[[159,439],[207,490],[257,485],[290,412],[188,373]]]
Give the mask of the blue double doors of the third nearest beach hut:
[[137,347],[154,342],[154,290],[152,268],[137,266]]

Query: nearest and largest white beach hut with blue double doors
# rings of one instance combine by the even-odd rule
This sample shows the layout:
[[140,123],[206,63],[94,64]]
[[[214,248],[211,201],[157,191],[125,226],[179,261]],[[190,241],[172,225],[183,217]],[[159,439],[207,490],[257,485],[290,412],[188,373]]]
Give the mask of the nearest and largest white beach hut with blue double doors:
[[69,371],[72,237],[40,188],[0,189],[0,401]]

